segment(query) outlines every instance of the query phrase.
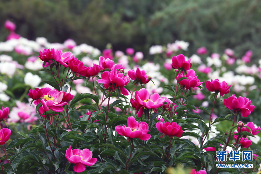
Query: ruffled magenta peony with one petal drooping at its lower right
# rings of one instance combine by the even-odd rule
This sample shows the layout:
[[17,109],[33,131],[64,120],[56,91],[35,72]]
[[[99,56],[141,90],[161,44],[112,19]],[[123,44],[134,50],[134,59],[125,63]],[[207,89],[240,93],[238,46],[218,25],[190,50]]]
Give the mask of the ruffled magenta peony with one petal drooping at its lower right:
[[129,95],[128,90],[124,88],[124,86],[126,86],[131,80],[128,75],[124,76],[124,74],[120,73],[120,71],[114,71],[112,69],[110,72],[104,71],[101,78],[102,79],[97,80],[97,82],[103,83],[106,89],[108,89],[110,86],[113,87],[115,84],[115,88],[113,90],[115,90],[118,86],[120,87],[120,91],[123,95]]

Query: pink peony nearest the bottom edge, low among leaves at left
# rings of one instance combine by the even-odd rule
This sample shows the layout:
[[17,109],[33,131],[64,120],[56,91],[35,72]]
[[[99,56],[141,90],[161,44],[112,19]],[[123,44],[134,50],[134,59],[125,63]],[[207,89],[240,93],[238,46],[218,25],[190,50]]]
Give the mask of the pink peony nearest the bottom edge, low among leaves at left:
[[73,167],[73,170],[79,173],[85,171],[85,165],[92,166],[97,161],[97,158],[92,158],[93,152],[91,152],[89,149],[72,150],[71,146],[66,150],[65,157],[70,163],[76,164]]

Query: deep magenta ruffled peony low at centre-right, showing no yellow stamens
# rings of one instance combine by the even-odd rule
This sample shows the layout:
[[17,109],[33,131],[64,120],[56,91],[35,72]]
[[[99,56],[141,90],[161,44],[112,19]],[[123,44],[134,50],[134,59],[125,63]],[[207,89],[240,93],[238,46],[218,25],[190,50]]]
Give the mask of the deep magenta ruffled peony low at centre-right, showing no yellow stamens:
[[176,122],[157,122],[156,128],[163,134],[161,137],[168,135],[170,138],[173,138],[174,136],[180,138],[183,133],[182,127]]

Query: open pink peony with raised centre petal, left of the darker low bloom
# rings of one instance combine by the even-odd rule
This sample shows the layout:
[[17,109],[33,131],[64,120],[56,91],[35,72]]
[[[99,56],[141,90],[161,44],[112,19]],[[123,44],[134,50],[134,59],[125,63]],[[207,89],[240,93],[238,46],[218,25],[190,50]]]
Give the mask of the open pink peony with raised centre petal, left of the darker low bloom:
[[130,116],[127,120],[127,126],[116,126],[115,130],[121,136],[129,138],[139,138],[143,141],[151,138],[149,132],[149,126],[146,122],[137,122],[133,116]]

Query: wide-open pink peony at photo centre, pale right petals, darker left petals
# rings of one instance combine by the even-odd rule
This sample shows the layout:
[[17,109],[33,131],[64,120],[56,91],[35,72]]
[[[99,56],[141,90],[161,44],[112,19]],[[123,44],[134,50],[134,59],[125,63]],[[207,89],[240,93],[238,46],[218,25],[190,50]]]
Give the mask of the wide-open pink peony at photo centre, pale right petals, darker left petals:
[[147,89],[142,88],[139,91],[135,91],[135,100],[131,99],[131,105],[137,110],[137,117],[141,117],[144,112],[144,108],[153,109],[157,112],[157,108],[161,107],[167,100],[166,97],[160,97],[158,93],[154,93],[149,96]]

